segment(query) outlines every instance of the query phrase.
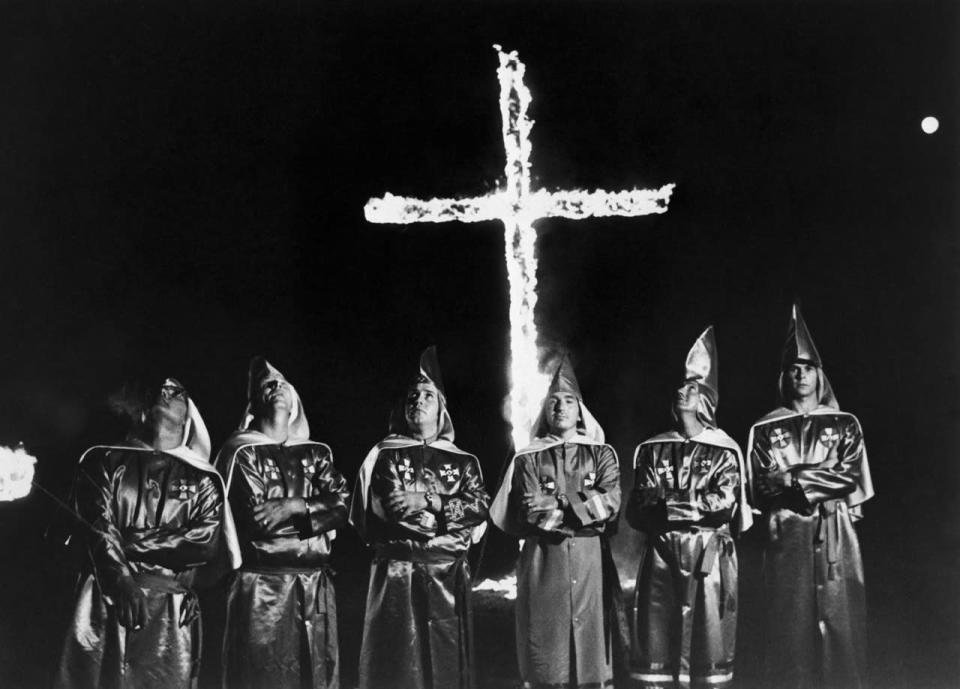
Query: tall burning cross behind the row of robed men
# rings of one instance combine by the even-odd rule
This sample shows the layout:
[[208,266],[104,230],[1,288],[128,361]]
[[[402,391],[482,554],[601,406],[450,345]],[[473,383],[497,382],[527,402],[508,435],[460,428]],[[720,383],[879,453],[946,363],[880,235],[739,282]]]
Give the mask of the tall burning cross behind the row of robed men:
[[525,66],[516,51],[494,48],[500,57],[500,115],[506,153],[505,183],[488,196],[467,199],[415,199],[393,194],[370,199],[364,207],[369,222],[480,222],[499,220],[504,226],[507,279],[510,288],[509,420],[514,447],[530,441],[549,378],[540,370],[537,352],[537,232],[541,218],[582,219],[664,213],[673,184],[659,189],[630,191],[532,191],[530,130],[527,117],[532,98],[523,83]]

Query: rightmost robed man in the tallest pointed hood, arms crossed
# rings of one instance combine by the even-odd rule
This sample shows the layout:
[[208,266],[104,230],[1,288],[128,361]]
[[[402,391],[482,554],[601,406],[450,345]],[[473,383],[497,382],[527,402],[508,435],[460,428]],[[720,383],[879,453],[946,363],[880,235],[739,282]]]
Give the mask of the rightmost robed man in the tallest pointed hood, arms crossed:
[[866,682],[866,606],[853,525],[873,484],[860,422],[840,411],[797,306],[779,388],[747,450],[765,539],[766,680],[855,689]]

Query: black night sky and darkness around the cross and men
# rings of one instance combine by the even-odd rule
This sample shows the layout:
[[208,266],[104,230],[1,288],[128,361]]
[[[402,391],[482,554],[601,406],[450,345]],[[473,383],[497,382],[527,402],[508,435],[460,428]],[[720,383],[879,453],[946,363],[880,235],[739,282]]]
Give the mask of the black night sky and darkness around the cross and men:
[[[65,496],[80,452],[114,438],[108,392],[156,374],[185,383],[219,444],[262,353],[353,477],[436,343],[458,442],[493,490],[509,450],[502,226],[371,225],[363,205],[496,186],[500,43],[527,65],[536,186],[677,184],[664,215],[537,224],[543,343],[572,351],[627,485],[709,323],[720,423],[746,442],[801,299],[870,450],[874,684],[950,686],[958,20],[954,2],[906,1],[4,2],[0,442],[25,442]],[[53,510],[37,491],[0,505],[5,688],[47,685],[70,614]],[[626,577],[635,534],[619,540]],[[480,576],[508,571],[513,547],[491,538]],[[365,555],[347,532],[338,548],[351,686]],[[758,566],[748,535],[744,686]],[[490,624],[481,644],[512,634],[508,616]],[[513,672],[496,649],[485,686]]]

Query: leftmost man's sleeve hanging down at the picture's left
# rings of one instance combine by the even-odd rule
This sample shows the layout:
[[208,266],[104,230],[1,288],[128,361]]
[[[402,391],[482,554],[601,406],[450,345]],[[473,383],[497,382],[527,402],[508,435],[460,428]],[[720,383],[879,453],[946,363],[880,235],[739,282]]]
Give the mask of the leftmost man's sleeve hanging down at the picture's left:
[[122,577],[131,575],[115,511],[117,471],[99,455],[84,459],[77,475],[77,512],[95,532],[88,534],[90,558],[97,580],[108,595]]

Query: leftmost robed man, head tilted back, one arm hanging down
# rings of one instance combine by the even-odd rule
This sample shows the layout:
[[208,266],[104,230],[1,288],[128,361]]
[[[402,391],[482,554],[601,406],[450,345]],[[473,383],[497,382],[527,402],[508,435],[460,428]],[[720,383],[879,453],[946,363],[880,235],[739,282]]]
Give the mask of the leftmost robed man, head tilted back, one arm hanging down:
[[173,378],[152,392],[123,444],[80,458],[76,510],[91,533],[57,687],[194,687],[196,570],[240,561],[200,412]]

